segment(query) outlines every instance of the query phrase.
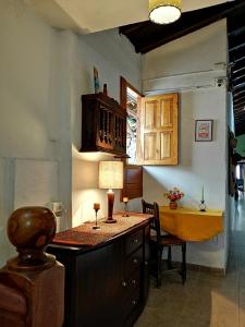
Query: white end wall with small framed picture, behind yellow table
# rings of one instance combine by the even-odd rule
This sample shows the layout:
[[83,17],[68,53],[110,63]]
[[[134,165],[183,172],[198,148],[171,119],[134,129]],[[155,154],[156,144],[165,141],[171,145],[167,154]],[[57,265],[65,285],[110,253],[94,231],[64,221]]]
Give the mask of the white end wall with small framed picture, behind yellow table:
[[[220,64],[222,62],[222,64]],[[226,90],[215,87],[215,77],[225,76],[225,21],[162,46],[144,57],[144,90],[180,93],[180,165],[145,167],[144,197],[167,204],[163,192],[179,186],[181,205],[198,208],[201,185],[208,208],[226,215]],[[213,141],[195,142],[195,120],[213,120]],[[225,226],[225,222],[224,222]],[[187,262],[224,268],[224,234],[208,242],[189,243]]]

